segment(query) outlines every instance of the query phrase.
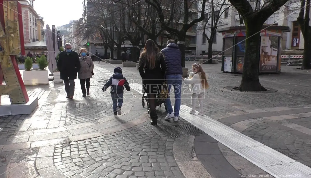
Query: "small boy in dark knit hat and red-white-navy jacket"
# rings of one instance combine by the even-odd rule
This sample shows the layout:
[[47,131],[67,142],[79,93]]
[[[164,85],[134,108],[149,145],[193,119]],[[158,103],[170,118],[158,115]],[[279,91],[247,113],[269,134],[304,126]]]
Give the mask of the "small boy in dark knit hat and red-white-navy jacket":
[[127,91],[131,91],[130,85],[125,77],[123,77],[121,67],[114,68],[114,74],[109,78],[109,81],[104,85],[103,91],[106,91],[111,86],[110,94],[112,98],[112,105],[114,115],[121,115],[121,107],[123,105],[123,87]]

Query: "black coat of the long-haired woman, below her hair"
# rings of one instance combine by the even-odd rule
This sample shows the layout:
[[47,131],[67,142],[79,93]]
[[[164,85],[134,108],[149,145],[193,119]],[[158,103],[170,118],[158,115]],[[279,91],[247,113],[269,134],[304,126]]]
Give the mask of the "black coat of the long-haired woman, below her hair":
[[139,59],[138,71],[142,77],[143,93],[159,94],[165,78],[165,70],[165,60],[161,53],[160,57],[156,59],[156,67],[154,69],[150,69],[148,59]]

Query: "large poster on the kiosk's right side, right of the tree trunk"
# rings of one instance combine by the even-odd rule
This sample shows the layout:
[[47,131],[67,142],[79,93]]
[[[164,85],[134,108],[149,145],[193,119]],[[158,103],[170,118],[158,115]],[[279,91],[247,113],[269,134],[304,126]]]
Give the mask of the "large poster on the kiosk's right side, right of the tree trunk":
[[276,72],[279,37],[261,37],[260,72]]

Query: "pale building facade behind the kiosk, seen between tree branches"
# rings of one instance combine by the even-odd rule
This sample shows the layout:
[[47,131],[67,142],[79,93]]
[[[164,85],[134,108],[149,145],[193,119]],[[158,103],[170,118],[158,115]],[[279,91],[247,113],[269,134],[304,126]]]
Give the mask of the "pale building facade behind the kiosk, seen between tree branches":
[[[215,0],[215,4],[221,4],[223,0]],[[256,2],[252,4],[253,9],[256,6]],[[262,1],[262,4],[264,2]],[[240,16],[238,11],[230,4],[227,5],[228,7],[223,7],[223,13],[220,15],[217,29],[222,27],[229,27],[229,26],[236,26],[241,24]],[[207,8],[208,9],[208,8]],[[215,9],[217,11],[217,9]],[[222,12],[220,11],[220,12]],[[279,25],[279,26],[288,26],[291,29],[291,32],[284,33],[282,39],[282,49],[303,49],[304,48],[304,38],[300,31],[299,24],[297,22],[297,17],[300,11],[300,1],[291,0],[285,4],[285,6],[281,7],[279,11],[276,11],[272,16],[270,16],[265,24],[271,25]],[[207,13],[211,13],[207,11]],[[205,29],[205,33],[209,37],[211,34],[211,23],[207,24]],[[311,22],[310,22],[311,25]],[[207,39],[203,35],[203,25],[199,23],[197,25],[197,54],[207,53],[208,52],[208,43]],[[217,33],[216,39],[213,40],[213,51],[222,51],[223,47],[223,40],[222,34]]]

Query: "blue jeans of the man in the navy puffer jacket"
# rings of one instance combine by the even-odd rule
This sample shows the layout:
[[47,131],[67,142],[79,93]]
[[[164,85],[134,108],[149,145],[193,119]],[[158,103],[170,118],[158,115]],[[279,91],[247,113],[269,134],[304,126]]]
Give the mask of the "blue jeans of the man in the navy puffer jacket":
[[[175,94],[175,105],[174,105],[174,116],[179,116],[180,104],[181,104],[181,84],[183,82],[183,77],[181,74],[170,74],[166,75],[166,83],[169,86],[169,93],[171,91],[171,87],[174,87]],[[165,100],[165,105],[167,107],[167,113],[172,113],[172,103],[170,97]]]

